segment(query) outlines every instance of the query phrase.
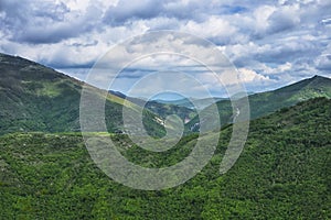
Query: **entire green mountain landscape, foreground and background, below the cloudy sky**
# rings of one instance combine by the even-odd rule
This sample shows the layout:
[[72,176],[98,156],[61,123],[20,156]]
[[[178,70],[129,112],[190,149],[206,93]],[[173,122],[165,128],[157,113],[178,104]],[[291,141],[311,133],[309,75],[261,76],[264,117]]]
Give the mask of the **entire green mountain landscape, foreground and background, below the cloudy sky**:
[[[233,110],[229,100],[217,101],[223,128],[203,136],[221,138],[210,162],[186,183],[156,191],[116,183],[92,161],[75,132],[82,88],[82,81],[54,69],[0,54],[0,219],[331,219],[331,79],[314,76],[249,96],[245,147],[222,175]],[[87,89],[106,99],[109,136],[130,163],[163,168],[194,151],[200,138],[190,125],[197,118],[168,151],[146,151],[121,134],[122,109],[141,110],[142,100]],[[194,111],[148,103],[149,134],[163,135],[160,121],[172,113],[184,118]],[[185,175],[189,167],[182,168]]]

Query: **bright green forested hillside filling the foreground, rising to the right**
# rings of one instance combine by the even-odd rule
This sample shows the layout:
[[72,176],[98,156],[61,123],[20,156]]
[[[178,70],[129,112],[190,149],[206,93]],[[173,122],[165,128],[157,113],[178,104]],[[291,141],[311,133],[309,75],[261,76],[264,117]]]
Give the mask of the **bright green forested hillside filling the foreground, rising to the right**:
[[[0,136],[2,219],[331,219],[331,101],[317,98],[253,120],[236,164],[220,175],[232,125],[210,163],[178,187],[145,191],[109,179],[79,133]],[[132,163],[173,165],[197,135],[163,153],[122,134],[111,139]]]

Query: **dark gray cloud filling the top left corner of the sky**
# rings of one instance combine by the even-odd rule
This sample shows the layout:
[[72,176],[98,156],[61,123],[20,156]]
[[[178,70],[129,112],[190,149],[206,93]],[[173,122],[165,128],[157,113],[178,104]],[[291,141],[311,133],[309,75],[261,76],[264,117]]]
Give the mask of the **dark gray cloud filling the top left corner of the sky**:
[[[83,16],[67,16],[71,10],[63,2],[2,0],[4,13],[0,30],[14,42],[30,44],[58,43],[79,36],[95,28],[98,9],[89,7]],[[74,12],[73,12],[74,13]]]

